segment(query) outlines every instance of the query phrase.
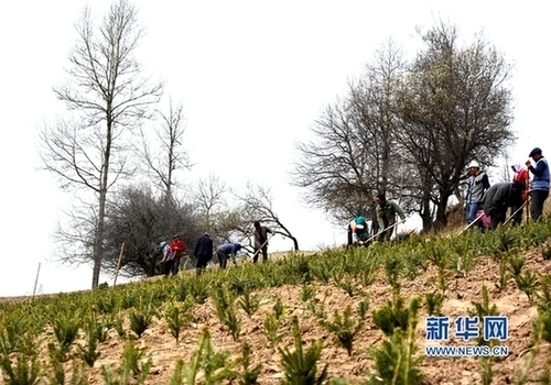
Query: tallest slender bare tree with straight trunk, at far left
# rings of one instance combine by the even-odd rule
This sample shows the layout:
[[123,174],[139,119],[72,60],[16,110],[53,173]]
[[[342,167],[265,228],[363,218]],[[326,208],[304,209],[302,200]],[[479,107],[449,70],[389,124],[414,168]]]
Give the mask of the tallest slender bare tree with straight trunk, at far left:
[[[142,29],[137,9],[129,1],[112,3],[99,26],[85,8],[76,31],[78,41],[69,54],[67,84],[54,88],[74,117],[43,128],[41,156],[62,187],[94,194],[94,288],[104,258],[107,194],[129,172],[126,154],[131,139],[126,134],[149,118],[163,85],[144,78],[134,58]],[[85,248],[90,244],[85,239],[80,243]]]

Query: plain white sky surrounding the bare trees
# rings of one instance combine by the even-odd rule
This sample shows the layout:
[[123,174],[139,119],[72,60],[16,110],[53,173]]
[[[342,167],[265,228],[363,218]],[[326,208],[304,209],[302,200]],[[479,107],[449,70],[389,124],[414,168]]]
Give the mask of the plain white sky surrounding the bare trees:
[[[82,0],[3,1],[0,4],[0,296],[86,289],[89,267],[48,262],[51,234],[67,197],[51,175],[37,172],[36,130],[63,113],[52,87],[76,38]],[[89,2],[102,16],[110,1]],[[548,147],[548,76],[551,24],[543,1],[173,1],[137,0],[147,36],[138,53],[165,80],[165,97],[184,103],[191,180],[218,175],[239,188],[271,186],[274,207],[301,249],[342,244],[344,227],[325,224],[289,185],[294,141],[361,73],[389,37],[412,54],[415,25],[437,19],[456,24],[464,40],[484,30],[487,41],[515,63],[514,127],[521,135],[512,161]],[[168,100],[168,98],[166,98]],[[315,228],[312,228],[315,223]],[[276,241],[271,250],[289,250]],[[106,280],[104,278],[101,282]],[[109,283],[111,280],[109,279]]]

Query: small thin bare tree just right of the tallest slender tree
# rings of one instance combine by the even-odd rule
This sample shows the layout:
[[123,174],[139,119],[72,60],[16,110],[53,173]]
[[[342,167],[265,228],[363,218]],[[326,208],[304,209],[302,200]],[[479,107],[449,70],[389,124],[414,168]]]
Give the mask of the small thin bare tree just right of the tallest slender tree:
[[142,131],[141,153],[147,166],[144,172],[152,174],[164,196],[172,199],[174,187],[177,187],[175,172],[190,169],[192,166],[190,157],[183,148],[185,133],[183,105],[173,106],[171,99],[169,110],[166,112],[159,110],[158,114],[161,127],[154,132],[155,140],[151,141]]

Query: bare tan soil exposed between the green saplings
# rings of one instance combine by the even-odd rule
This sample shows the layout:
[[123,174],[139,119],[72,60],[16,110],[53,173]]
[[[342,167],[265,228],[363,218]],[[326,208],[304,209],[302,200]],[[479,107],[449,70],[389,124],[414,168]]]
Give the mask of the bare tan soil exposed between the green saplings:
[[[531,270],[541,273],[551,273],[551,262],[543,261],[538,251],[527,253],[528,261],[525,270]],[[311,257],[317,257],[312,255]],[[407,299],[412,296],[422,296],[425,293],[434,292],[435,286],[431,284],[431,277],[436,276],[434,267],[430,267],[423,275],[414,280],[403,279],[401,294]],[[171,279],[171,278],[165,278]],[[509,355],[505,359],[493,362],[494,372],[493,384],[512,383],[518,373],[529,369],[527,384],[538,383],[538,376],[544,365],[544,358],[537,358],[533,362],[527,364],[527,349],[529,348],[530,334],[533,321],[537,318],[537,311],[528,301],[526,294],[520,292],[512,279],[507,287],[499,292],[496,283],[499,282],[498,265],[489,257],[484,257],[466,278],[451,277],[450,287],[445,292],[445,302],[443,314],[454,319],[456,316],[466,316],[474,309],[473,301],[482,301],[482,287],[486,285],[490,296],[490,302],[495,304],[500,315],[507,316],[509,321],[509,339],[505,343],[509,349]],[[369,314],[374,309],[380,308],[390,297],[390,287],[383,282],[381,274],[369,287],[363,288],[363,295],[350,297],[343,289],[334,285],[316,286],[316,298],[318,302],[325,298],[325,309],[327,315],[333,315],[335,309],[342,311],[346,305],[350,304],[353,309],[357,309],[358,302],[367,296],[369,298]],[[242,321],[241,337],[235,342],[229,331],[218,321],[214,314],[214,305],[209,300],[202,306],[194,308],[196,322],[187,326],[181,336],[181,342],[176,344],[175,339],[169,331],[164,319],[154,319],[153,324],[138,339],[137,344],[144,348],[147,356],[153,361],[151,375],[148,384],[169,383],[170,376],[174,373],[176,360],[183,358],[190,362],[193,352],[197,345],[199,330],[207,327],[212,333],[212,340],[215,351],[228,350],[233,358],[240,356],[242,342],[247,341],[252,349],[252,364],[261,363],[262,372],[259,384],[278,384],[282,378],[281,356],[278,351],[272,349],[263,333],[263,320],[267,314],[272,311],[276,299],[281,298],[285,307],[285,318],[290,320],[292,316],[298,316],[302,330],[303,342],[310,346],[313,341],[323,341],[324,350],[322,363],[328,364],[331,376],[342,376],[350,383],[360,383],[366,380],[366,373],[372,370],[374,361],[368,353],[370,346],[378,346],[383,334],[375,329],[370,316],[354,340],[354,351],[352,356],[342,346],[337,346],[333,336],[324,330],[318,320],[301,302],[300,286],[283,286],[270,288],[260,292],[262,305],[260,309],[250,318],[242,309],[239,309],[238,316]],[[13,299],[13,298],[12,298]],[[418,354],[423,354],[425,345],[424,318],[426,312],[424,308],[420,310],[419,323],[417,328]],[[284,327],[290,330],[290,322]],[[461,343],[460,341],[450,341],[450,343]],[[106,342],[101,343],[99,349],[101,356],[90,371],[90,383],[102,384],[100,367],[101,365],[111,366],[114,370],[119,367],[121,352],[125,341],[115,330],[109,330]],[[293,341],[288,336],[283,346],[292,348]],[[545,348],[549,349],[549,348]],[[544,355],[544,354],[543,354]],[[528,366],[529,365],[529,366]],[[421,370],[425,374],[424,384],[479,384],[480,383],[480,360],[477,359],[443,359],[424,358],[421,363]],[[1,380],[0,380],[1,383]]]

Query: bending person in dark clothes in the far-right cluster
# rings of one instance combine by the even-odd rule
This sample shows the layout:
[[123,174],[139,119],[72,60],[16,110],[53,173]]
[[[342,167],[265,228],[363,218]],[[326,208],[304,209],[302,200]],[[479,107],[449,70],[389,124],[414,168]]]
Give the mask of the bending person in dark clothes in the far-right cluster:
[[484,195],[484,213],[490,218],[490,230],[496,230],[499,223],[504,223],[507,209],[521,201],[525,185],[520,182],[498,183],[493,185]]

